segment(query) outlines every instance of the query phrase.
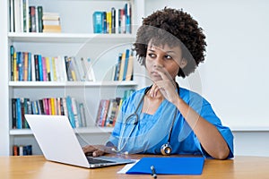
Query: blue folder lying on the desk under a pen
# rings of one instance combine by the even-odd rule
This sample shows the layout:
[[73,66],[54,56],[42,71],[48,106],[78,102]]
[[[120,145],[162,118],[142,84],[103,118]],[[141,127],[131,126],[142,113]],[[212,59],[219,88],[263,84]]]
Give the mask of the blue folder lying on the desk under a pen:
[[151,166],[154,166],[157,175],[201,175],[204,158],[141,158],[126,174],[152,174]]

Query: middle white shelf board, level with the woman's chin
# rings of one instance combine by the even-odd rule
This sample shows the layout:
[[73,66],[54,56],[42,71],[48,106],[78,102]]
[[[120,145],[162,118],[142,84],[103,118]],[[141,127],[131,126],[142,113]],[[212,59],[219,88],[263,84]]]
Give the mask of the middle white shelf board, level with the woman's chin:
[[113,87],[113,86],[137,86],[134,81],[9,81],[10,87]]

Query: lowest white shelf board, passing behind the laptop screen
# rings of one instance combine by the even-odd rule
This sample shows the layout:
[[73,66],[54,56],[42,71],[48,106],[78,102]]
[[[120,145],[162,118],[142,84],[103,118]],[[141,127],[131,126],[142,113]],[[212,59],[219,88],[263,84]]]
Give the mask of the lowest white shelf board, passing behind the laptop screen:
[[[107,133],[107,132],[112,132],[113,128],[112,127],[83,127],[83,128],[74,128],[75,133]],[[30,129],[12,129],[9,131],[10,135],[32,135],[33,133],[31,132]]]

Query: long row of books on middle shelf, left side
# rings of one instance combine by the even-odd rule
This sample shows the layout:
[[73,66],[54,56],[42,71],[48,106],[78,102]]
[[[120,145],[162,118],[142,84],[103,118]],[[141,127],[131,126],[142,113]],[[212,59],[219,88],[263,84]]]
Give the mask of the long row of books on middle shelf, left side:
[[11,46],[11,81],[95,81],[91,59],[16,52]]

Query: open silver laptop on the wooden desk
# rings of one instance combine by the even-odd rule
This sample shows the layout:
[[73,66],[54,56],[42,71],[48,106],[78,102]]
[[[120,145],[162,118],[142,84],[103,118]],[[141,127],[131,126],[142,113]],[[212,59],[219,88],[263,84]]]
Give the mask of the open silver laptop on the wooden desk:
[[120,157],[86,157],[65,115],[25,115],[25,118],[44,157],[49,161],[87,168],[134,162]]

